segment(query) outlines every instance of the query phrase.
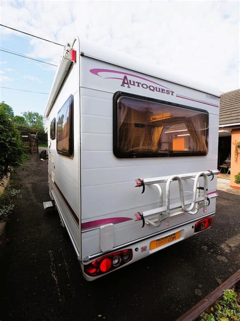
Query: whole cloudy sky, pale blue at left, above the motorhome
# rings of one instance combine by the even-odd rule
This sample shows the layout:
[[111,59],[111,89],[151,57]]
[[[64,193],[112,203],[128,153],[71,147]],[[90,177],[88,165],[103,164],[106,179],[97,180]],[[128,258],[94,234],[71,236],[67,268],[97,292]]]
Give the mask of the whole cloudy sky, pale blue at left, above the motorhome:
[[[66,44],[81,39],[171,73],[239,88],[238,1],[4,1],[1,24]],[[11,14],[10,14],[11,13]],[[0,26],[0,49],[58,65],[62,47]],[[0,101],[44,114],[57,67],[0,51]]]

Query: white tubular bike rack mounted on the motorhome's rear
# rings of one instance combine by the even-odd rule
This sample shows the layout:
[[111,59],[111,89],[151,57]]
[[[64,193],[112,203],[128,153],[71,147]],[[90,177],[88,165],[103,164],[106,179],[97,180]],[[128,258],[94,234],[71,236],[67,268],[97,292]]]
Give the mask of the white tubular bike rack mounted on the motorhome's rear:
[[[134,215],[136,216],[137,220],[143,221],[143,226],[146,224],[150,224],[153,227],[159,227],[162,224],[163,220],[166,220],[166,225],[169,225],[170,216],[178,215],[180,213],[189,213],[191,215],[195,215],[198,210],[200,209],[199,204],[203,203],[203,212],[207,213],[207,206],[210,204],[210,199],[216,198],[218,196],[217,192],[212,192],[208,195],[208,176],[217,175],[219,173],[218,170],[213,171],[203,171],[203,172],[196,172],[196,173],[187,173],[187,174],[180,174],[180,175],[172,175],[172,176],[165,176],[165,177],[152,177],[152,178],[138,178],[135,180],[137,185],[135,187],[143,187],[142,194],[145,191],[146,185],[153,185],[158,189],[159,192],[159,204],[160,207],[155,209],[138,212]],[[199,186],[199,178],[203,177],[204,179],[204,186]],[[192,179],[194,180],[193,190],[192,190],[192,199],[185,201],[183,195],[183,185],[182,180]],[[170,204],[170,186],[171,183],[177,180],[178,181],[178,188],[179,188],[179,195],[180,195],[180,203]],[[163,190],[159,183],[166,182],[166,205],[163,206]],[[203,195],[201,196],[201,190],[203,190]],[[157,219],[154,218],[153,220],[150,219],[152,216],[158,215]],[[154,221],[155,220],[155,221]]]

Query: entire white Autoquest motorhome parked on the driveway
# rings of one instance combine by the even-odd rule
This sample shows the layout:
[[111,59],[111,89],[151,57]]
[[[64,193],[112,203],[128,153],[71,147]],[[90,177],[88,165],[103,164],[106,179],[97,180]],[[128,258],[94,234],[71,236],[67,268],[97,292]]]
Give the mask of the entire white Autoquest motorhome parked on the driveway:
[[76,38],[45,111],[49,192],[87,280],[211,226],[219,91]]

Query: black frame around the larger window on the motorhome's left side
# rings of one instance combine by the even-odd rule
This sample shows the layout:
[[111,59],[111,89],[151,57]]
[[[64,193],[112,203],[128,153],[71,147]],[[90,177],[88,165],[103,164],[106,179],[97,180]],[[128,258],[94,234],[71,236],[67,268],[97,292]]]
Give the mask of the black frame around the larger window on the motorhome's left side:
[[68,156],[70,157],[73,153],[73,95],[70,94],[70,96],[68,97],[68,99],[65,101],[65,103],[62,105],[62,107],[59,109],[58,113],[57,113],[57,119],[58,119],[58,114],[61,112],[61,110],[64,108],[65,104],[69,102],[69,135],[68,135],[68,151],[65,150],[61,150],[58,149],[58,121],[56,121],[56,139],[57,139],[57,153],[64,155],[64,156]]

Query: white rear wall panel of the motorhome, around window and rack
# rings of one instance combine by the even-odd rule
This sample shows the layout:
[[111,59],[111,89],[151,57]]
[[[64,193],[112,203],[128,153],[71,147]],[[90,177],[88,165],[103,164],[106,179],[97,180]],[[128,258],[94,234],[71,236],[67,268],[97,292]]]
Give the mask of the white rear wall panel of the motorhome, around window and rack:
[[[127,77],[127,78],[126,78]],[[131,83],[129,82],[131,80]],[[139,83],[139,85],[137,84]],[[135,85],[131,85],[135,83]],[[145,85],[142,87],[141,84]],[[153,87],[169,88],[162,92]],[[166,90],[169,90],[167,93]],[[209,113],[209,149],[206,156],[117,158],[113,154],[113,95],[124,91],[142,97],[207,110]],[[81,194],[82,258],[101,252],[99,226],[114,223],[114,246],[163,231],[136,222],[134,213],[156,208],[159,195],[148,186],[143,195],[135,188],[135,179],[213,170],[217,168],[219,99],[204,92],[116,67],[92,58],[81,57]],[[164,189],[164,186],[163,186]],[[184,183],[186,200],[191,198],[192,182]],[[216,190],[216,177],[209,192]],[[165,192],[164,192],[165,199]],[[171,201],[179,201],[173,183]],[[215,200],[208,213],[215,212]],[[195,217],[201,217],[199,210]],[[171,226],[187,222],[184,213],[171,219]]]

